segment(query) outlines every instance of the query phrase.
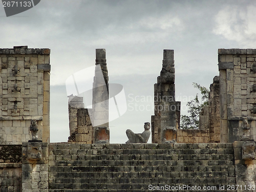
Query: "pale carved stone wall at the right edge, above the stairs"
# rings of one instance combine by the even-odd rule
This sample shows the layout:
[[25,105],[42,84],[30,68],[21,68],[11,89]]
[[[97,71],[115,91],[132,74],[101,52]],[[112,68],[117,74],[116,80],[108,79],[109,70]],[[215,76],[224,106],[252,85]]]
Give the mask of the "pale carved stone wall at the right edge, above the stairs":
[[221,142],[256,139],[256,49],[219,49]]

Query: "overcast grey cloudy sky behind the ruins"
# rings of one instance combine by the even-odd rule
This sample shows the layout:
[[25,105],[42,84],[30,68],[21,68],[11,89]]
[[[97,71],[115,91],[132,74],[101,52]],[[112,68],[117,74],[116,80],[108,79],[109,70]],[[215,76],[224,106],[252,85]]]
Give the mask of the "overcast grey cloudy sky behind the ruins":
[[197,93],[192,83],[209,88],[218,75],[219,48],[256,48],[255,9],[253,0],[42,0],[6,17],[1,6],[0,47],[51,49],[51,142],[69,136],[66,79],[95,65],[95,49],[106,49],[109,82],[122,84],[128,106],[110,122],[110,142],[124,143],[126,129],[141,133],[154,114],[163,49],[175,50],[176,100],[186,114]]

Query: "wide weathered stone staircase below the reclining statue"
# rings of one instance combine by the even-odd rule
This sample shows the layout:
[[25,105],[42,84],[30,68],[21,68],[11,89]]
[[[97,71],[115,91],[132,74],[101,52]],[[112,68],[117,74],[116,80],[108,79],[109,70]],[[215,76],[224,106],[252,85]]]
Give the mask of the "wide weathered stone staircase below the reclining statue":
[[49,145],[49,192],[236,191],[228,185],[232,143]]

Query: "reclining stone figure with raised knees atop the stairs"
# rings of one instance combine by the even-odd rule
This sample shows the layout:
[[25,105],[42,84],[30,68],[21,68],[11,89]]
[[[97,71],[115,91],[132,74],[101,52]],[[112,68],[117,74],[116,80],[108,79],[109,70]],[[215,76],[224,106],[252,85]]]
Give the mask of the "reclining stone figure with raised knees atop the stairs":
[[142,133],[134,133],[132,130],[126,130],[126,135],[128,137],[128,141],[125,143],[147,143],[150,138],[150,123],[144,123],[144,129]]

